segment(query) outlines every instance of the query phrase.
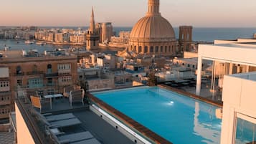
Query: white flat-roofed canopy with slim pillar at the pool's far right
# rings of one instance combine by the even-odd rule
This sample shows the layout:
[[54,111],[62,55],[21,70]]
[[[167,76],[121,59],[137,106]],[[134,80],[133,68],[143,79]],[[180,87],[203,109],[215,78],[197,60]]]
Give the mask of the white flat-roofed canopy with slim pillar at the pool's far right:
[[[224,64],[224,75],[253,72],[256,67],[256,44],[200,44],[197,64],[196,95],[200,95],[203,60],[212,60]],[[223,76],[219,78],[222,79]]]

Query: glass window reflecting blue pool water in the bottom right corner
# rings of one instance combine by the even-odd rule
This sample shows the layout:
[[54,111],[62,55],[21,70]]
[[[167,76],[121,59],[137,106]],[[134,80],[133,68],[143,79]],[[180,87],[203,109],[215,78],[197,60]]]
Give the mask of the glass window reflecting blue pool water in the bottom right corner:
[[256,143],[256,124],[237,118],[235,144]]

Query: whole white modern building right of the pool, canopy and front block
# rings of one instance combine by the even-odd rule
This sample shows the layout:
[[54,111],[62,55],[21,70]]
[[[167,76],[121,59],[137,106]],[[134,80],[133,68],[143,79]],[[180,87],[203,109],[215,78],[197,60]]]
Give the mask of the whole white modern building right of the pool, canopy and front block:
[[255,42],[216,41],[199,45],[196,95],[201,92],[203,60],[223,64],[223,75],[219,77],[224,102],[221,144],[256,143],[255,54]]

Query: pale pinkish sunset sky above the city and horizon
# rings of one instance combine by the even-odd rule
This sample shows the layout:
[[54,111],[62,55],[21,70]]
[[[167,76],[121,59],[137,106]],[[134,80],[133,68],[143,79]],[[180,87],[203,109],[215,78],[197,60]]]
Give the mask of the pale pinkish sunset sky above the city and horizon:
[[[133,27],[147,0],[0,0],[0,26],[70,26],[96,22]],[[160,0],[161,15],[173,27],[256,27],[255,0]]]

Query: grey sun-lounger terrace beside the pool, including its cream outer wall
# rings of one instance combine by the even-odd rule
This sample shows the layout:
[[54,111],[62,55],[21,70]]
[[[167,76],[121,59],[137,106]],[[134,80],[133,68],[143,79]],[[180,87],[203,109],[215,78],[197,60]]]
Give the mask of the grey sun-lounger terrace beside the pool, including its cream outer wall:
[[[47,107],[47,105],[44,105],[44,107]],[[44,115],[44,112],[47,112],[48,115]],[[22,98],[16,100],[15,134],[18,144],[133,143],[112,125],[106,123],[94,112],[91,112],[87,105],[82,106],[81,102],[75,103],[73,107],[70,107],[67,99],[60,98],[53,101],[51,110],[44,108],[44,112],[40,114],[36,107],[32,107],[31,103],[25,102]],[[49,115],[49,113],[51,114]],[[64,119],[67,115],[72,115],[72,118]],[[70,125],[72,119],[80,123]],[[64,125],[62,123],[64,121],[70,121],[70,123]],[[47,123],[54,123],[54,125],[51,127]],[[57,140],[60,141],[58,142]]]

